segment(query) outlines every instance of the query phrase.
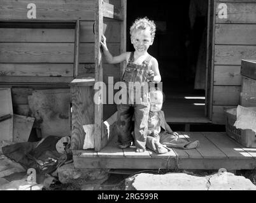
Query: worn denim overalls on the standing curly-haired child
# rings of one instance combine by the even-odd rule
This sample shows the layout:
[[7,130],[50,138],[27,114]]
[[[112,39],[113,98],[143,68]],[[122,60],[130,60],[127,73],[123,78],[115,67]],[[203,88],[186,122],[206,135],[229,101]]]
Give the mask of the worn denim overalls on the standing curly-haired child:
[[[130,103],[121,103],[117,105],[117,133],[118,141],[122,144],[129,144],[133,140],[132,138],[132,117],[134,115],[134,141],[136,148],[146,147],[146,133],[148,130],[148,112],[150,110],[149,93],[143,91],[143,86],[148,84],[148,64],[152,56],[148,56],[143,62],[143,65],[137,65],[134,62],[134,52],[131,52],[129,62],[125,67],[123,75],[123,82],[127,85],[127,98]],[[135,88],[129,88],[129,82],[139,82],[139,94],[140,103],[135,102],[135,98],[131,98],[129,93],[134,92],[136,95]],[[132,101],[132,102],[131,102]]]

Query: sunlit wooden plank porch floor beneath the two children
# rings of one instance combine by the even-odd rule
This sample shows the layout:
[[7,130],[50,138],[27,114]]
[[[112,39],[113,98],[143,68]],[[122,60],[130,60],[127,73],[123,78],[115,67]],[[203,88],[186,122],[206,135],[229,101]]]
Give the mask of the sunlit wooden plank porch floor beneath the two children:
[[158,155],[151,150],[136,153],[135,147],[120,149],[117,138],[100,152],[73,150],[76,168],[108,169],[255,169],[256,148],[246,148],[225,133],[181,133],[188,141],[199,140],[194,150],[171,148],[167,154]]

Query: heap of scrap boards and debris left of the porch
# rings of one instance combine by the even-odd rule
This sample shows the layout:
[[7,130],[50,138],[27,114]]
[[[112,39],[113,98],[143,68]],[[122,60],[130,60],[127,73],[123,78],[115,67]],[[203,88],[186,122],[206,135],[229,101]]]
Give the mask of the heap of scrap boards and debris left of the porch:
[[[60,91],[61,94],[54,94],[50,90],[50,96],[47,94],[48,90],[35,91],[35,94],[45,93],[45,98],[52,100],[48,101],[51,105],[58,105],[54,102],[54,98],[57,96],[68,98],[66,94],[68,91]],[[64,94],[63,94],[64,93]],[[68,95],[68,96],[67,96]],[[43,187],[49,187],[51,183],[57,181],[56,169],[63,164],[72,162],[72,154],[70,149],[70,136],[69,131],[65,131],[67,128],[61,128],[58,125],[57,119],[52,122],[52,125],[47,121],[47,114],[49,112],[50,105],[46,108],[46,100],[40,100],[40,96],[36,95],[36,99],[33,99],[31,95],[31,115],[34,117],[28,117],[26,115],[13,114],[13,105],[11,100],[11,89],[0,89],[0,190],[40,190]],[[60,98],[63,101],[63,98]],[[40,100],[41,103],[37,100]],[[45,102],[44,102],[45,101]],[[68,101],[68,100],[67,100]],[[36,103],[36,105],[34,105]],[[40,105],[43,106],[43,110],[40,110]],[[68,105],[66,105],[68,106]],[[59,108],[63,105],[59,105]],[[52,107],[57,108],[57,107]],[[41,108],[42,109],[42,108]],[[64,115],[65,111],[59,109],[62,114],[61,118],[67,118]],[[68,111],[68,108],[66,108]],[[36,113],[33,113],[36,112]],[[52,112],[50,112],[52,114]],[[45,114],[43,117],[40,114]],[[58,115],[54,112],[55,115]],[[53,117],[53,116],[51,116]],[[60,117],[60,116],[59,116]],[[69,118],[69,117],[68,117]],[[36,122],[37,119],[39,122]],[[45,122],[43,122],[45,120]],[[62,119],[63,120],[63,119]],[[69,120],[66,119],[69,124]],[[48,123],[47,123],[48,122]],[[62,126],[65,121],[62,121]],[[35,124],[36,123],[36,124]],[[42,124],[42,125],[40,125]],[[43,124],[46,124],[43,126]],[[69,126],[65,124],[66,126]],[[43,128],[43,134],[41,140],[29,142],[32,128]],[[55,126],[55,128],[54,128]],[[51,129],[55,131],[51,132]],[[61,131],[58,131],[61,129]],[[66,132],[64,134],[64,132]],[[48,134],[47,134],[48,133]],[[50,135],[52,134],[52,135]],[[68,135],[68,136],[64,136]],[[27,174],[27,171],[34,170],[34,174]],[[8,179],[15,174],[21,174],[17,179]],[[36,180],[28,182],[29,178],[36,177]],[[31,176],[31,177],[29,177]],[[8,181],[11,180],[11,181]]]

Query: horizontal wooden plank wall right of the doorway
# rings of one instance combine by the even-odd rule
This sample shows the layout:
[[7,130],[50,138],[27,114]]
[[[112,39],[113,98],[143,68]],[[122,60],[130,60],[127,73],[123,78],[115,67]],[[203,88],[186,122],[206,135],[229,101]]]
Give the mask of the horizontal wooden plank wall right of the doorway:
[[[218,8],[227,6],[227,18],[219,18]],[[241,60],[256,58],[255,0],[217,0],[215,15],[215,55],[212,121],[224,124],[224,109],[239,104]]]

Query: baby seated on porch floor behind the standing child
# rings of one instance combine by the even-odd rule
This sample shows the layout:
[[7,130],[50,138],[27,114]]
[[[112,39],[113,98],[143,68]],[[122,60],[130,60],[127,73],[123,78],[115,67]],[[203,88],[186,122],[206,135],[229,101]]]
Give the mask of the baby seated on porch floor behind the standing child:
[[168,152],[167,147],[192,149],[199,147],[199,141],[189,142],[179,138],[178,133],[173,132],[164,119],[161,110],[163,94],[160,89],[150,89],[150,112],[148,116],[148,136],[146,147],[157,154]]

